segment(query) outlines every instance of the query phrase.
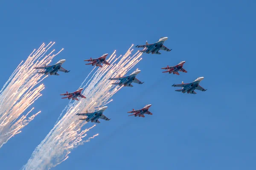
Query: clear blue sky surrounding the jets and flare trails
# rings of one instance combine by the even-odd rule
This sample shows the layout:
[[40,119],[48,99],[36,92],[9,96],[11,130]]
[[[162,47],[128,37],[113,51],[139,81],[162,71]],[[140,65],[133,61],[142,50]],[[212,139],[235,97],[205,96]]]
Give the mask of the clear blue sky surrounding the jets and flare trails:
[[[111,121],[88,133],[99,136],[53,169],[255,170],[255,8],[254,0],[1,2],[1,86],[42,42],[64,48],[52,62],[66,59],[71,71],[44,80],[33,105],[42,113],[0,149],[0,169],[26,164],[69,102],[59,94],[76,90],[90,73],[84,59],[166,36],[173,50],[143,54],[137,65],[145,83],[115,94],[105,111]],[[183,60],[188,73],[161,73]],[[201,76],[206,92],[171,87]],[[128,117],[146,104],[152,116]]]

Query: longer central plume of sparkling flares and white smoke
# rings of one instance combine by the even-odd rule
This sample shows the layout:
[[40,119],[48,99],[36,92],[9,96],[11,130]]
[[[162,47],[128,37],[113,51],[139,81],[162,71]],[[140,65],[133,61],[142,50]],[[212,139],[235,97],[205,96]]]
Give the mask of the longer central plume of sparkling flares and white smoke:
[[[113,81],[108,79],[110,77],[123,76],[140,61],[139,58],[142,55],[142,53],[137,52],[136,55],[131,57],[130,54],[132,50],[129,48],[125,55],[115,59],[115,52],[116,51],[114,51],[108,59],[111,65],[104,65],[103,68],[98,68],[86,85],[81,85],[83,87],[87,86],[83,92],[83,95],[87,98],[67,105],[63,111],[66,113],[34,150],[27,164],[23,166],[24,170],[43,170],[55,167],[68,158],[68,154],[73,148],[84,142],[89,142],[90,139],[98,136],[98,134],[96,134],[85,141],[82,140],[86,136],[86,132],[96,125],[89,123],[93,126],[89,129],[82,130],[82,127],[87,122],[79,120],[76,113],[78,111],[85,113],[87,110],[93,112],[95,111],[94,108],[101,107],[108,103],[108,100],[113,94],[122,88],[112,85],[111,83],[113,83]],[[111,101],[112,100],[109,102]],[[108,117],[111,116],[108,111],[105,114]]]

